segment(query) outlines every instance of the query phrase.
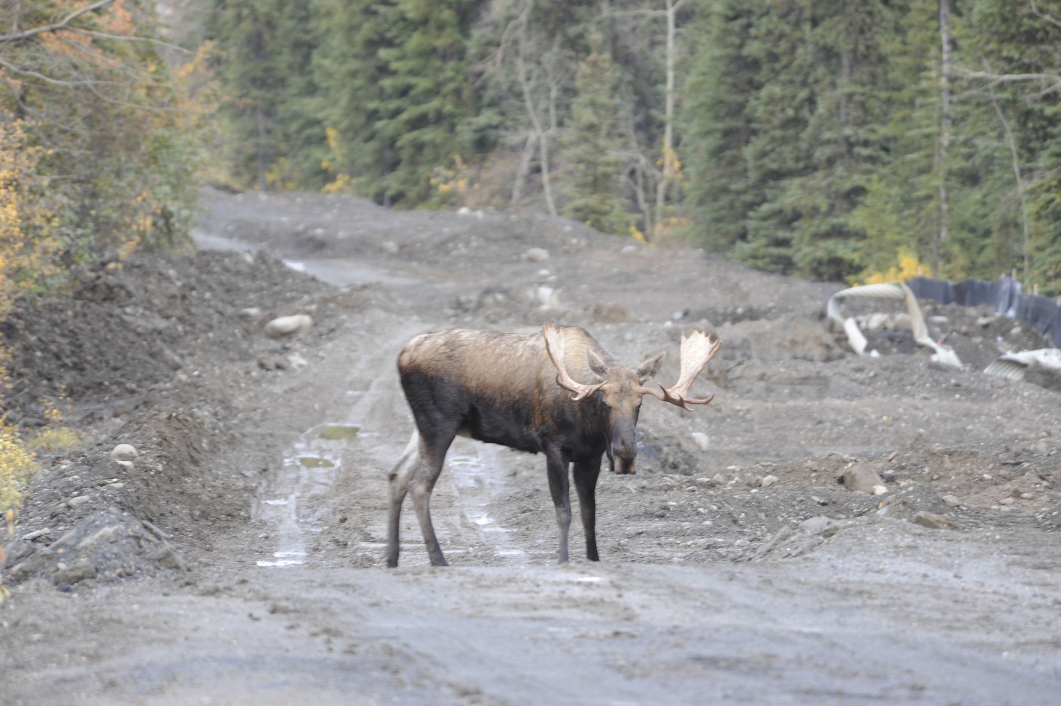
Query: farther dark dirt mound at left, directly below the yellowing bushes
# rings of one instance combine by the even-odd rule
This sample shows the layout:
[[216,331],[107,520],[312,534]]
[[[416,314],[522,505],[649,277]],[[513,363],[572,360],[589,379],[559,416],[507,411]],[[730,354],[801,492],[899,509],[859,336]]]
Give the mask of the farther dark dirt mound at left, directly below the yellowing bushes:
[[174,372],[193,375],[204,348],[222,360],[246,357],[259,324],[240,318],[241,309],[258,307],[267,320],[324,290],[268,257],[204,252],[101,266],[67,296],[20,302],[0,324],[11,354],[7,412],[39,419],[41,400],[60,396],[76,399],[83,415],[102,401],[132,411]]

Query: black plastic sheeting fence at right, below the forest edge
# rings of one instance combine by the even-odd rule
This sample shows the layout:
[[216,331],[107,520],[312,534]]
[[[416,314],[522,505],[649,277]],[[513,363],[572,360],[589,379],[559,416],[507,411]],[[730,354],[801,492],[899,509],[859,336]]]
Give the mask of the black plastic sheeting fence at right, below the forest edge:
[[952,282],[933,277],[914,277],[906,281],[919,299],[967,307],[991,307],[1001,314],[1027,322],[1061,348],[1061,307],[1054,299],[1038,294],[1021,294],[1021,283],[1011,277],[993,282],[967,279]]

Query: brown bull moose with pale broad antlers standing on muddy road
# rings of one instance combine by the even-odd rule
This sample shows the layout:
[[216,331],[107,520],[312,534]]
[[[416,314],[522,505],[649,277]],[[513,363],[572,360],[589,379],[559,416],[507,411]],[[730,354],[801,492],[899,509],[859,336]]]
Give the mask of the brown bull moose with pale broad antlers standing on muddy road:
[[692,411],[707,404],[689,388],[720,347],[700,331],[682,335],[681,372],[673,388],[645,384],[665,352],[637,369],[619,365],[582,328],[545,324],[540,334],[451,329],[415,337],[398,356],[398,373],[416,430],[388,476],[387,566],[398,566],[398,527],[408,490],[433,566],[448,566],[431,524],[431,492],[446,452],[460,434],[529,453],[544,453],[560,530],[559,562],[568,561],[571,498],[568,469],[586,530],[596,548],[597,476],[607,453],[615,473],[633,473],[641,400],[650,395]]

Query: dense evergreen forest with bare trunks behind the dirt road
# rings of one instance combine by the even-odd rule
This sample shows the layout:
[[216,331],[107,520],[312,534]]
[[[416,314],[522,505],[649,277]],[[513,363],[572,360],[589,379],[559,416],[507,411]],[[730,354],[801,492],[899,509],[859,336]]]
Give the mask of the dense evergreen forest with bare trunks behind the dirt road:
[[241,186],[1061,293],[1061,1],[215,0]]

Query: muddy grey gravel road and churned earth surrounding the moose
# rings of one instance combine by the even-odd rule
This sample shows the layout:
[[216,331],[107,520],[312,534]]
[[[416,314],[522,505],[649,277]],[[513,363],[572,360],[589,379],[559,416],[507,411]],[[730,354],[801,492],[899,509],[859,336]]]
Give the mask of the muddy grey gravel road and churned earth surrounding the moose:
[[[934,307],[968,369],[903,331],[856,358],[837,288],[696,251],[205,195],[222,252],[102,270],[3,331],[27,435],[65,393],[92,442],[44,458],[6,544],[4,704],[1057,703],[1061,395],[979,373],[1033,332]],[[263,334],[297,313],[309,333]],[[601,479],[599,564],[577,520],[554,564],[540,457],[458,440],[432,505],[454,567],[425,566],[406,510],[383,569],[402,343],[550,320],[667,350],[662,380],[682,331],[715,333],[715,401],[646,402],[638,475]]]

